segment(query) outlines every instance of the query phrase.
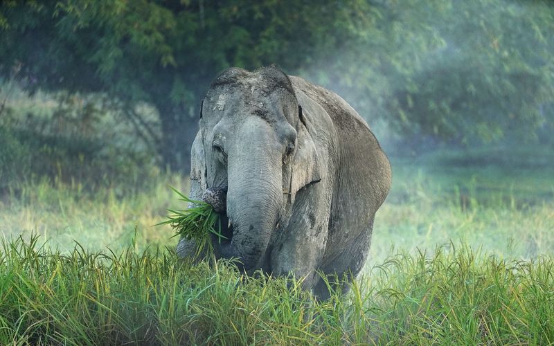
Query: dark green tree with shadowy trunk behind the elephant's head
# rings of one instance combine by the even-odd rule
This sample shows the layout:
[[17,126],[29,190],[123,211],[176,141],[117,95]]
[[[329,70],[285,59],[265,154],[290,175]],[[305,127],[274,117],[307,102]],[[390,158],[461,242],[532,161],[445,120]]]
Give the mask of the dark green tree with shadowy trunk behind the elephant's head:
[[7,1],[0,75],[36,89],[103,92],[159,111],[160,153],[187,169],[200,98],[215,74],[278,63],[294,71],[355,35],[364,1]]

